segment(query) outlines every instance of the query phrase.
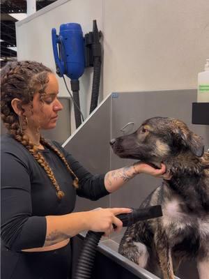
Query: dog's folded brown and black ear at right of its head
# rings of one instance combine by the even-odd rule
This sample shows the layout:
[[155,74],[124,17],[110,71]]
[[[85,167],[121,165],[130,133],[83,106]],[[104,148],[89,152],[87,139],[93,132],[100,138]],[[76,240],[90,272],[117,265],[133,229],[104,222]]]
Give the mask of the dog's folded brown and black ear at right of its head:
[[178,127],[174,129],[173,132],[176,134],[178,143],[183,144],[185,147],[188,147],[195,156],[203,156],[204,145],[199,135],[196,135],[195,133],[190,131],[187,126],[186,128],[183,126]]

